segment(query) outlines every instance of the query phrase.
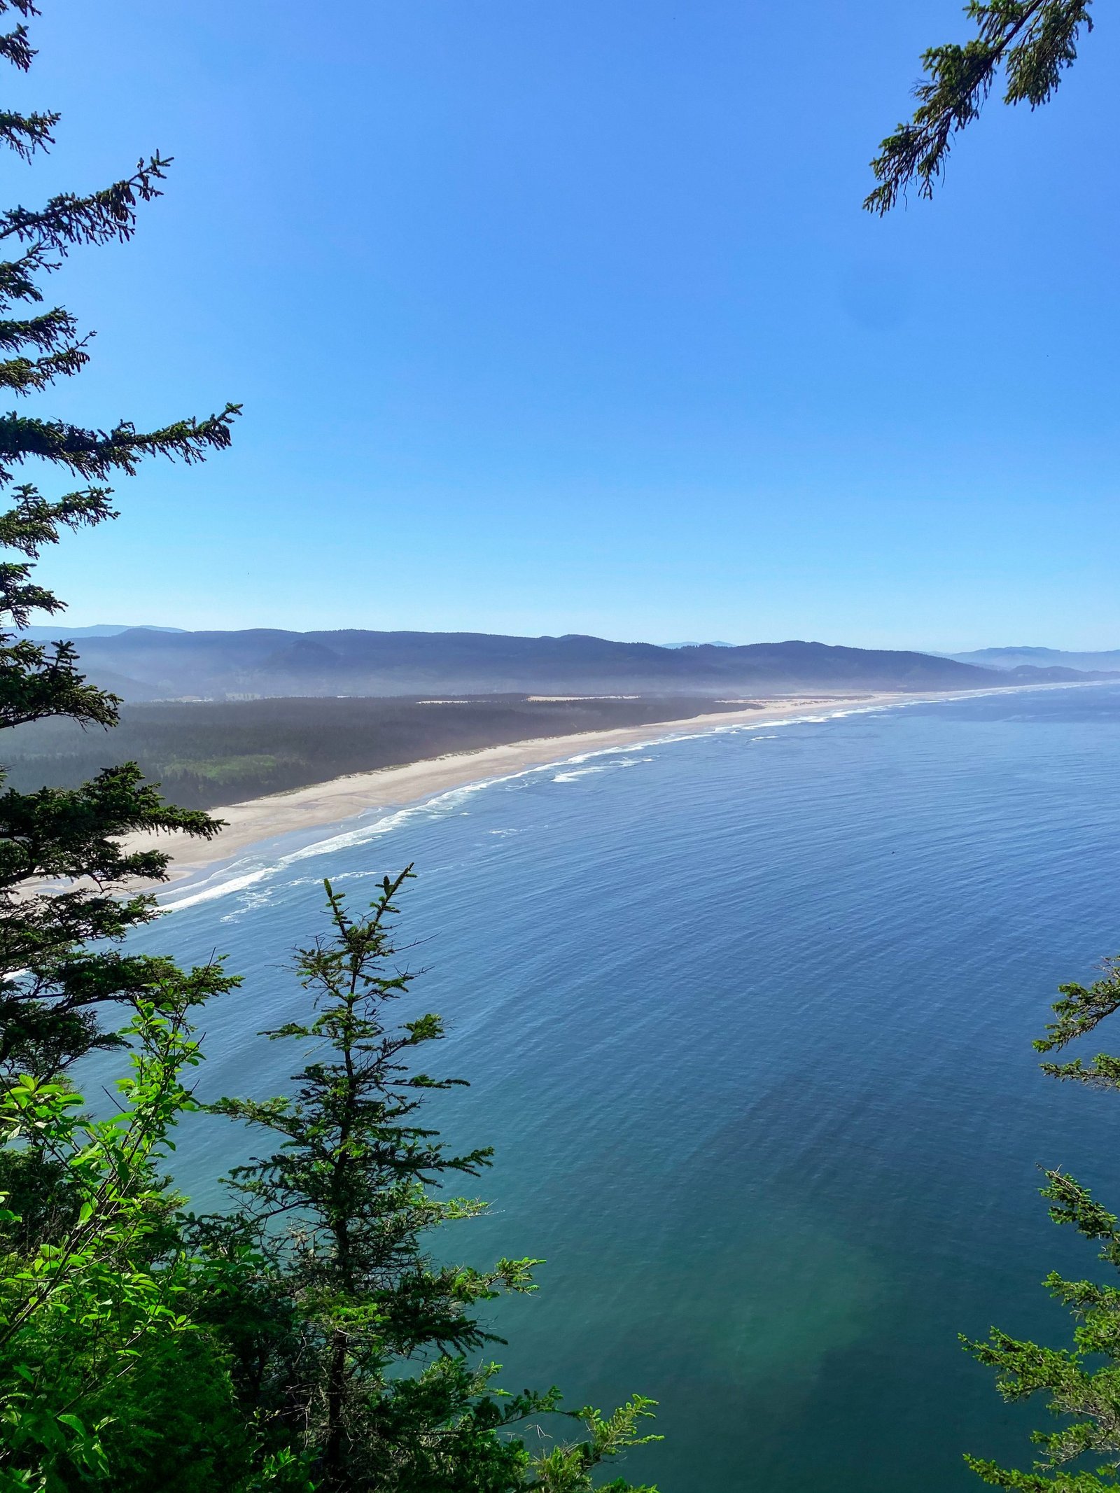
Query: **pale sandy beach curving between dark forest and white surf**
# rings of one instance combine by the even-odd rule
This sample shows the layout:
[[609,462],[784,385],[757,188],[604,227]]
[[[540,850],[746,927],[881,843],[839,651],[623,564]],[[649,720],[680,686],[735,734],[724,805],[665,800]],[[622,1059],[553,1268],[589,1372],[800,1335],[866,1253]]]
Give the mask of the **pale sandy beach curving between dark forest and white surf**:
[[[987,694],[990,691],[969,690],[963,693]],[[681,730],[709,732],[718,727],[765,726],[771,721],[805,715],[806,711],[838,711],[845,706],[872,711],[889,705],[912,705],[950,697],[959,699],[960,696],[950,696],[947,691],[805,694],[775,700],[772,705],[763,702],[742,711],[675,717],[668,721],[648,721],[644,726],[617,726],[570,736],[536,736],[499,746],[478,746],[469,751],[445,752],[441,757],[424,757],[390,767],[376,767],[370,772],[348,773],[285,793],[224,805],[215,809],[214,815],[225,821],[225,829],[212,841],[175,836],[169,844],[166,835],[128,835],[122,845],[130,851],[158,848],[170,853],[167,879],[154,888],[161,896],[172,890],[181,890],[188,879],[212,872],[223,861],[231,861],[269,841],[294,838],[315,830],[345,829],[349,821],[372,809],[412,806],[452,788],[512,776],[533,767],[560,764],[585,752],[651,744],[654,739],[663,739],[666,735],[671,736]]]

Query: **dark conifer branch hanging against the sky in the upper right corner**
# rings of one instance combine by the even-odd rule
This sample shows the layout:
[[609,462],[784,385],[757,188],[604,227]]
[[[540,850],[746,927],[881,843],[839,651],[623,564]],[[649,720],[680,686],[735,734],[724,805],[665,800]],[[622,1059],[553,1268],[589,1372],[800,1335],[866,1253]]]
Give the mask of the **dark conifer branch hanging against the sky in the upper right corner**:
[[1002,79],[1004,103],[1047,103],[1062,73],[1077,60],[1083,33],[1092,31],[1093,0],[969,0],[965,15],[975,34],[930,46],[921,54],[924,79],[914,88],[914,116],[896,127],[871,163],[878,187],[863,206],[886,213],[917,184],[932,197],[944,175],[953,136],[980,115]]

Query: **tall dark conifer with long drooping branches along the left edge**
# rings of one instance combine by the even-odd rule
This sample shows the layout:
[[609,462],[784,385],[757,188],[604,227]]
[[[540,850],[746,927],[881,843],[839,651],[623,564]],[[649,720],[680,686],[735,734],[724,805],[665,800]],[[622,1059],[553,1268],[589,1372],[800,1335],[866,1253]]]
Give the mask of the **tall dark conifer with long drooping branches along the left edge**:
[[[34,52],[24,22],[36,7],[31,0],[0,0],[4,12],[19,19],[0,34],[0,57],[27,70]],[[0,140],[31,160],[51,145],[57,122],[57,113],[3,110]],[[13,399],[42,394],[88,361],[91,334],[82,336],[69,311],[45,300],[43,281],[73,248],[130,239],[137,206],[160,194],[167,164],[154,155],[100,191],[0,212],[0,387]],[[0,493],[9,505],[0,512],[0,548],[9,552],[0,563],[0,730],[45,717],[93,727],[115,723],[118,700],[82,678],[70,643],[43,646],[19,636],[33,614],[63,609],[34,582],[34,561],[64,530],[116,517],[108,478],[131,476],[148,455],[197,461],[223,449],[236,412],[227,405],[220,415],[148,431],[128,421],[87,430],[64,420],[0,415]],[[43,496],[24,479],[28,463],[78,485]],[[121,888],[134,878],[158,879],[167,864],[158,851],[124,851],[119,836],[211,836],[218,829],[205,814],[166,805],[131,763],[75,790],[0,793],[0,1081],[57,1073],[90,1048],[112,1044],[99,1008],[127,1005],[169,975],[166,961],[112,947],[154,915],[149,896],[119,896]],[[70,887],[37,891],[42,878],[66,878]]]

